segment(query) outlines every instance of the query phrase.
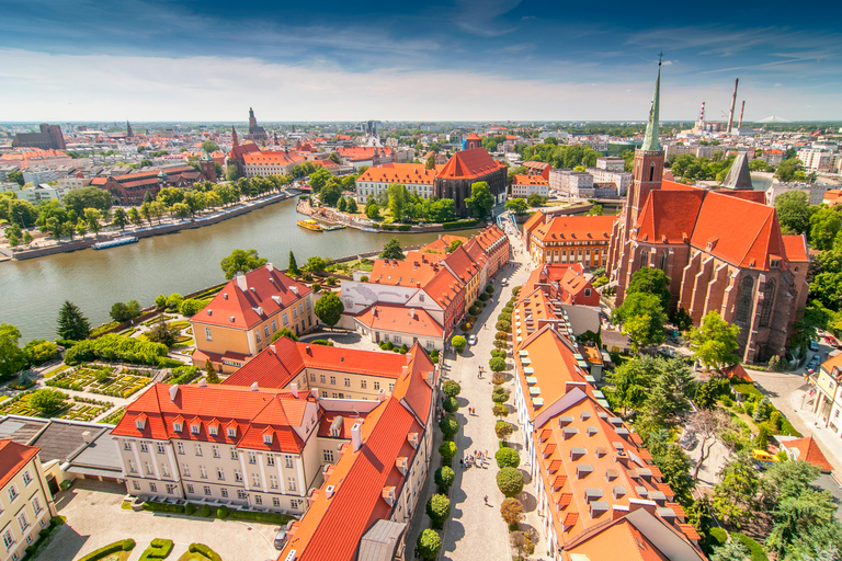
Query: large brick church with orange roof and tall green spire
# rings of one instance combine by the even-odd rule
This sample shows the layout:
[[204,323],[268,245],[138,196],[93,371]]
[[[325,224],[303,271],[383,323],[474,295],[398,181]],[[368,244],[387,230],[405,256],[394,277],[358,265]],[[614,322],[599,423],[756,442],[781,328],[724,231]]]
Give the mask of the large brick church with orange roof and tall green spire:
[[786,352],[807,302],[807,241],[781,233],[763,192],[752,191],[750,182],[729,181],[749,176],[744,158],[735,161],[726,180],[731,188],[708,191],[663,179],[660,80],[659,65],[633,185],[608,247],[617,305],[636,271],[660,268],[670,278],[671,310],[684,308],[695,325],[718,311],[740,327],[744,360],[769,360]]

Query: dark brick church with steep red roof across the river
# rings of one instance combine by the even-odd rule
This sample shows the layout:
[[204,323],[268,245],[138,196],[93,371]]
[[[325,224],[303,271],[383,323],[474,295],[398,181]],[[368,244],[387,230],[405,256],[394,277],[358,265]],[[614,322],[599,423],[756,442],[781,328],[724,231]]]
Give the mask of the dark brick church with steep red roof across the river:
[[[469,146],[477,140],[467,138]],[[469,209],[465,199],[470,197],[470,186],[485,181],[488,183],[494,204],[505,202],[507,167],[498,162],[485,148],[468,148],[454,153],[435,176],[433,194],[439,198],[452,198],[457,216],[467,216]],[[479,217],[483,218],[483,217]]]

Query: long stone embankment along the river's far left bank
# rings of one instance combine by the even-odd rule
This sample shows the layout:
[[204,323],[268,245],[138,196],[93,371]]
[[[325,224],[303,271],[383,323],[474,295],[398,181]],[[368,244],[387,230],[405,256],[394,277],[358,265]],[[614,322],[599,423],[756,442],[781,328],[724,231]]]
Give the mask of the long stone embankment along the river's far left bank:
[[[149,238],[152,236],[164,236],[164,234],[178,232],[181,230],[203,228],[205,226],[219,224],[223,220],[228,220],[230,218],[242,216],[244,214],[251,213],[252,210],[263,208],[268,205],[280,203],[281,201],[286,201],[287,198],[297,196],[299,193],[300,192],[298,190],[284,191],[282,193],[248,201],[244,203],[238,203],[235,206],[224,208],[214,214],[202,216],[198,218],[171,219],[171,221],[166,224],[158,224],[155,226],[147,226],[141,228],[109,232],[109,236],[86,238],[82,240],[70,241],[70,242],[58,241],[50,245],[42,245],[34,249],[24,249],[20,251],[13,250],[11,255],[8,255],[8,252],[3,251],[3,254],[11,256],[12,261],[25,261],[29,259],[43,257],[46,255],[55,255],[57,253],[69,253],[72,251],[88,249],[92,247],[94,243],[105,242],[105,241],[113,240],[115,238],[122,238],[125,236],[132,236],[135,238]],[[5,260],[5,261],[9,261],[9,260]]]

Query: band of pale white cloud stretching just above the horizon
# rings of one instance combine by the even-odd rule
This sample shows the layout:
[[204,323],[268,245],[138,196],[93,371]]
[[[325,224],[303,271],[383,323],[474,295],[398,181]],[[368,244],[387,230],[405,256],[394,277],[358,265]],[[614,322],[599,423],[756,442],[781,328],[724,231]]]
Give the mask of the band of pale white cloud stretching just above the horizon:
[[[48,55],[0,49],[0,121],[566,121],[644,119],[652,82],[612,77],[593,85],[556,67],[546,79],[383,68],[349,72],[254,58]],[[556,77],[568,82],[550,81]],[[606,75],[605,78],[610,76]],[[564,78],[562,78],[564,79]],[[652,76],[653,79],[653,76]],[[730,102],[730,84],[675,83],[662,76],[661,115],[692,121],[702,101]],[[839,118],[842,93],[763,89],[741,96],[754,114]],[[812,108],[805,113],[809,103]],[[797,108],[796,108],[797,107]],[[823,108],[823,111],[822,111]],[[798,114],[795,114],[799,112]],[[713,113],[712,113],[713,114]]]

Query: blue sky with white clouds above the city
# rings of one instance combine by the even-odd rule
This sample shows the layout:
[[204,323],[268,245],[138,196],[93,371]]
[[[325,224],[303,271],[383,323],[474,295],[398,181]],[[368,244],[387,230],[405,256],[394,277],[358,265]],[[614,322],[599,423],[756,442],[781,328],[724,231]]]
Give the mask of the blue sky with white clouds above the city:
[[0,0],[0,122],[842,119],[826,2]]

